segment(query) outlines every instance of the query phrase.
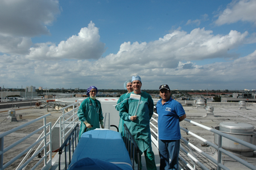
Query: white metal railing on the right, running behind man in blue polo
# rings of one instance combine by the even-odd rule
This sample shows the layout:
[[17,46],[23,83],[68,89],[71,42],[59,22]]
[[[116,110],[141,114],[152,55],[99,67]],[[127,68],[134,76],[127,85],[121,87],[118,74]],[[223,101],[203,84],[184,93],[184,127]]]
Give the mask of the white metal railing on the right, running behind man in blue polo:
[[[158,117],[158,114],[155,114]],[[151,118],[152,120],[156,121],[157,120],[152,117]],[[179,158],[181,161],[183,161],[185,163],[185,165],[187,165],[187,167],[189,169],[196,169],[196,166],[199,165],[199,167],[201,169],[208,169],[203,163],[201,163],[199,161],[199,159],[197,159],[197,156],[195,155],[194,152],[196,152],[197,154],[201,155],[201,156],[204,156],[206,159],[208,159],[211,163],[215,164],[217,169],[229,169],[227,167],[225,167],[225,165],[222,164],[222,160],[221,160],[221,154],[226,154],[228,155],[229,157],[231,157],[232,159],[238,161],[239,163],[245,165],[246,167],[250,168],[250,169],[256,169],[256,167],[253,165],[253,164],[250,164],[248,163],[247,161],[241,159],[240,157],[232,154],[231,152],[229,151],[226,151],[224,150],[224,148],[222,148],[222,137],[224,138],[227,138],[227,139],[230,139],[230,140],[233,140],[234,142],[236,143],[239,143],[239,144],[242,144],[243,146],[246,146],[246,147],[249,147],[251,148],[252,150],[256,151],[256,146],[254,144],[251,144],[251,143],[247,143],[241,139],[237,139],[237,138],[234,138],[233,136],[230,136],[228,134],[225,134],[223,132],[220,132],[220,131],[217,131],[215,130],[214,128],[210,128],[210,127],[207,127],[207,126],[204,126],[204,125],[201,125],[200,123],[197,123],[197,122],[194,122],[194,121],[191,121],[189,119],[184,119],[184,121],[187,121],[189,123],[192,123],[193,125],[196,125],[196,126],[199,126],[205,130],[208,130],[210,132],[213,132],[214,134],[217,134],[218,135],[218,145],[216,144],[213,144],[212,142],[209,142],[208,140],[202,138],[201,136],[199,135],[196,135],[195,133],[193,133],[192,131],[189,131],[187,128],[183,128],[183,127],[180,127],[181,130],[185,131],[187,134],[189,135],[192,135],[194,136],[195,138],[203,141],[204,143],[206,144],[209,144],[209,146],[212,146],[213,148],[215,148],[217,150],[217,160],[214,159],[212,156],[206,154],[205,152],[203,152],[202,150],[200,150],[200,148],[196,147],[195,145],[193,145],[191,142],[188,142],[186,139],[184,139],[182,136],[181,136],[181,140],[184,142],[185,146],[187,146],[188,148],[188,151],[185,150],[185,148],[183,146],[180,146],[180,151],[183,152],[185,155],[187,155],[188,159],[191,160],[191,164],[189,164],[187,161],[184,160],[184,158],[179,155]],[[155,125],[152,124],[152,122],[150,122],[150,125],[151,126],[154,126],[154,128],[156,128]],[[158,129],[158,128],[156,128]],[[152,131],[152,130],[151,130]],[[154,131],[154,130],[153,130]],[[154,132],[154,135],[156,135],[156,139],[152,140],[152,142],[155,144],[156,147],[158,147],[158,135],[156,134],[156,132]],[[193,151],[192,150],[195,150]],[[181,167],[180,167],[181,168]]]

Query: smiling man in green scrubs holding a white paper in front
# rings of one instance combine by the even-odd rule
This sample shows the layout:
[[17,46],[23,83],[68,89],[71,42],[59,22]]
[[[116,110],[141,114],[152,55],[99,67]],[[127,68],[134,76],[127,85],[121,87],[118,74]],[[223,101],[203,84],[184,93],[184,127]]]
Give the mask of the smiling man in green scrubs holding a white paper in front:
[[141,155],[144,152],[147,169],[156,169],[155,155],[151,146],[150,119],[154,112],[154,102],[151,96],[141,91],[141,77],[133,76],[133,92],[127,94],[119,110],[120,117],[139,147],[139,169],[142,169]]

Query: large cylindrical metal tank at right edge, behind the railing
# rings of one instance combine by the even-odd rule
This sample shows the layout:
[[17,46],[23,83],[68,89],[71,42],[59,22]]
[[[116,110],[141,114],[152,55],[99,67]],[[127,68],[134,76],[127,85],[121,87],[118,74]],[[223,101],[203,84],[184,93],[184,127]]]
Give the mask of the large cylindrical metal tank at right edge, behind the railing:
[[[245,142],[256,144],[256,133],[254,126],[248,123],[222,122],[220,126],[214,127],[216,130],[224,132],[234,138],[241,139]],[[218,135],[214,134],[214,143],[218,144]],[[243,146],[233,140],[222,137],[222,148],[225,150],[241,154],[246,157],[253,156],[253,149]]]

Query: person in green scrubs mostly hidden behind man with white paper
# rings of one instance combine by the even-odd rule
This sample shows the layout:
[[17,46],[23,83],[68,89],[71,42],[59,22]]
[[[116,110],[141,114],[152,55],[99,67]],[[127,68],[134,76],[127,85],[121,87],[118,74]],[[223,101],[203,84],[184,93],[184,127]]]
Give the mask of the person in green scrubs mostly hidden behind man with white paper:
[[[128,96],[127,94],[133,92],[133,86],[131,85],[131,80],[125,81],[125,84],[123,84],[123,88],[127,89],[128,92],[123,94],[121,97],[119,97],[119,99],[117,101],[117,105],[115,105],[115,109],[117,111],[120,110],[121,103],[127,98],[127,96]],[[122,118],[120,118],[118,130],[119,130],[119,132],[121,133],[122,136],[123,136],[123,123],[124,122],[125,121]]]

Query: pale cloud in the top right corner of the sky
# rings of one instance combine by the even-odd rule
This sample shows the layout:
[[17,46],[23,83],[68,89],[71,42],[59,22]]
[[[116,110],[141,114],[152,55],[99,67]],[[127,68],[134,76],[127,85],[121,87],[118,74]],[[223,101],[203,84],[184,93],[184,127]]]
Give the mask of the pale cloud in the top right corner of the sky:
[[239,20],[243,22],[251,22],[256,26],[256,1],[241,0],[232,1],[228,7],[222,11],[215,23],[218,26],[223,24],[236,23]]

